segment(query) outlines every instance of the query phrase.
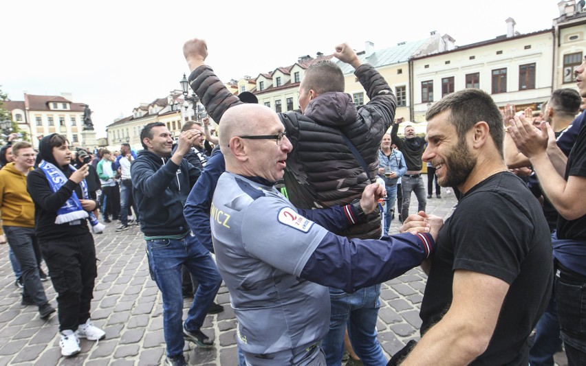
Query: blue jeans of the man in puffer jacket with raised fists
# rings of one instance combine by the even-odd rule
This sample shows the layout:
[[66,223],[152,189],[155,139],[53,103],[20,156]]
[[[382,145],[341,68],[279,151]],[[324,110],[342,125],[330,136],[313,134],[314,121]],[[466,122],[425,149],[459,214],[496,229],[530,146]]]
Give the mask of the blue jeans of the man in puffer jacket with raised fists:
[[362,363],[373,366],[387,365],[387,358],[376,339],[379,296],[380,284],[361,288],[353,294],[329,288],[332,314],[329,318],[329,332],[321,343],[327,365],[341,365],[346,327],[352,348]]

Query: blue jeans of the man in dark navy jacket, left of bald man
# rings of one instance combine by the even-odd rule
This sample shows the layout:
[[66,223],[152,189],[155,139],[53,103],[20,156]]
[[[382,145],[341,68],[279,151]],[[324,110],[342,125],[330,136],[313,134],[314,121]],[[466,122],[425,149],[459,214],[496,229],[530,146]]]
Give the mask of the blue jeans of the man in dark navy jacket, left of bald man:
[[208,308],[221,285],[221,277],[210,252],[195,236],[180,240],[146,240],[149,265],[163,297],[163,332],[167,356],[183,354],[183,296],[181,266],[185,265],[197,278],[199,287],[187,312],[185,328],[199,330],[206,319]]

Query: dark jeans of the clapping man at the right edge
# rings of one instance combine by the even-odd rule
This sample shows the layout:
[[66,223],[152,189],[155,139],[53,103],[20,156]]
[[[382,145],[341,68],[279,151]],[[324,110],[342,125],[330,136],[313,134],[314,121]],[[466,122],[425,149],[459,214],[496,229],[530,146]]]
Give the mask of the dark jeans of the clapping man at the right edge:
[[586,281],[556,274],[555,297],[568,365],[586,365]]

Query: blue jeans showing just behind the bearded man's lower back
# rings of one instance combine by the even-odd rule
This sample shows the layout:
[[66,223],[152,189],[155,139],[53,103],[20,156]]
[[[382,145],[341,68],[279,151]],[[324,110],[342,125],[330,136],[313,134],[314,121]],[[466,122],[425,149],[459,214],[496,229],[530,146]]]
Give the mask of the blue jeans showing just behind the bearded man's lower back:
[[552,293],[547,309],[535,326],[535,341],[529,350],[531,366],[554,366],[554,354],[561,346],[555,295]]

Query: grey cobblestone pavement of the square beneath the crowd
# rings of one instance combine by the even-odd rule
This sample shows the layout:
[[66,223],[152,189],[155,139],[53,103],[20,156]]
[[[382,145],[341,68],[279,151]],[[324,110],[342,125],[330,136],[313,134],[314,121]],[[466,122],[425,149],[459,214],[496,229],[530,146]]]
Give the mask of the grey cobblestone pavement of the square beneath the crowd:
[[[447,217],[456,203],[452,192],[428,199],[428,213]],[[413,196],[411,212],[416,210]],[[149,277],[144,240],[138,227],[116,233],[115,223],[94,236],[98,256],[98,278],[91,304],[91,318],[106,332],[98,343],[81,339],[81,352],[62,358],[58,345],[56,314],[39,319],[36,306],[21,305],[21,291],[14,286],[8,260],[8,245],[0,246],[0,366],[3,365],[161,365],[164,364],[162,298]],[[391,231],[398,232],[398,220]],[[46,267],[43,262],[43,269]],[[377,324],[378,339],[387,356],[410,339],[419,338],[419,307],[426,275],[415,268],[382,285]],[[44,282],[50,303],[56,307],[56,293]],[[185,301],[184,315],[189,306]],[[224,312],[208,315],[202,330],[215,338],[215,347],[202,349],[186,342],[191,365],[237,365],[236,320],[228,290],[222,286],[217,302]],[[560,365],[565,365],[558,361]]]

